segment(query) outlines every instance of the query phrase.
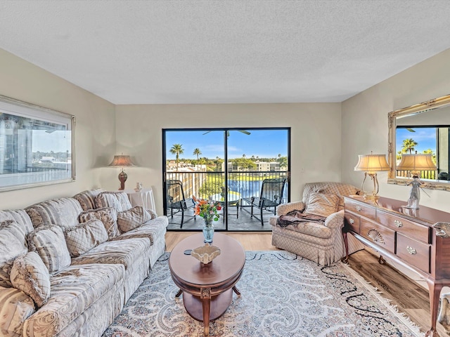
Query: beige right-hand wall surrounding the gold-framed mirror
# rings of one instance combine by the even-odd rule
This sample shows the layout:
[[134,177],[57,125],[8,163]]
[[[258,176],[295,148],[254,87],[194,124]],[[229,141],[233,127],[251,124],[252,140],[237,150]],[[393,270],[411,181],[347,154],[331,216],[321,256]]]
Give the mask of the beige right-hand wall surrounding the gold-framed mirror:
[[[401,72],[342,103],[342,181],[361,184],[353,170],[358,154],[387,154],[387,114],[390,111],[450,93],[450,49]],[[406,200],[410,187],[387,184],[378,174],[380,195]],[[426,190],[420,204],[450,211],[450,193]]]

